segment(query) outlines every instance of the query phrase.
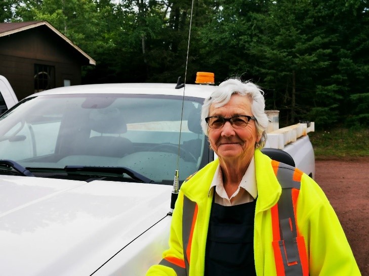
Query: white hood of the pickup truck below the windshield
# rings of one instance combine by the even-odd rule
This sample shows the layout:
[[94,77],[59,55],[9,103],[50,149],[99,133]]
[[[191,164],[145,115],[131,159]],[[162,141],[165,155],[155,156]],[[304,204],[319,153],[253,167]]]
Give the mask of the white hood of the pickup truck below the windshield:
[[0,176],[6,275],[90,275],[170,210],[171,186]]

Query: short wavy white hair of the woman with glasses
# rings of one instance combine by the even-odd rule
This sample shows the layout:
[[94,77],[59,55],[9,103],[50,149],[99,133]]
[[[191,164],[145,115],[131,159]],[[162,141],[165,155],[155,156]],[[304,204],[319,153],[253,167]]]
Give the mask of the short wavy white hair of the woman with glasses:
[[261,136],[259,145],[260,148],[265,146],[266,142],[266,128],[268,126],[268,116],[265,114],[265,100],[264,91],[256,84],[245,81],[242,82],[236,78],[230,78],[219,84],[218,88],[212,95],[205,99],[201,109],[201,128],[203,133],[208,135],[208,124],[205,118],[209,116],[210,106],[222,107],[227,104],[232,95],[247,96],[251,100],[251,111],[256,118],[256,129],[258,135]]

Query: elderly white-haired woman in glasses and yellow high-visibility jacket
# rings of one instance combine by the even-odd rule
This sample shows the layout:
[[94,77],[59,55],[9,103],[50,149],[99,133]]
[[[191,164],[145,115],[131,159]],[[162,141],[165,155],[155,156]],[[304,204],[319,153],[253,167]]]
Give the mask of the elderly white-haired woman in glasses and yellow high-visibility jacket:
[[[170,248],[147,275],[360,275],[314,180],[261,153],[264,108],[263,91],[238,79],[222,82],[204,101],[201,126],[218,159],[182,185]],[[279,201],[284,170],[293,175],[291,207]]]

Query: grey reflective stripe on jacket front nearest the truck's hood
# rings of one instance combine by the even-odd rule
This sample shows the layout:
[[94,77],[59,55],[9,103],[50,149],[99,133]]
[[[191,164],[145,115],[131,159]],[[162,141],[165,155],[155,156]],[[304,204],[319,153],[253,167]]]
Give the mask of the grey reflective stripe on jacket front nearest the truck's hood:
[[195,213],[196,202],[189,200],[186,196],[183,198],[183,215],[182,215],[182,244],[183,244],[183,257],[186,266],[186,271],[189,273],[190,264],[187,258],[187,247],[189,245],[191,226],[193,216]]

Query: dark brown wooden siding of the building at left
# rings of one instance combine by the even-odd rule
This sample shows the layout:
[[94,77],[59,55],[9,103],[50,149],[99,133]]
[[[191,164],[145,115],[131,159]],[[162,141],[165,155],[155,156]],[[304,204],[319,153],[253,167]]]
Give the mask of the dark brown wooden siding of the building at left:
[[12,85],[18,99],[34,93],[34,64],[55,67],[55,86],[81,82],[81,66],[89,60],[47,26],[0,37],[0,75]]

